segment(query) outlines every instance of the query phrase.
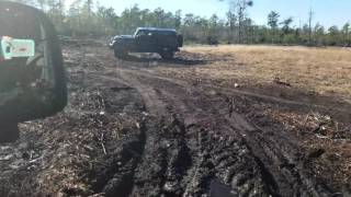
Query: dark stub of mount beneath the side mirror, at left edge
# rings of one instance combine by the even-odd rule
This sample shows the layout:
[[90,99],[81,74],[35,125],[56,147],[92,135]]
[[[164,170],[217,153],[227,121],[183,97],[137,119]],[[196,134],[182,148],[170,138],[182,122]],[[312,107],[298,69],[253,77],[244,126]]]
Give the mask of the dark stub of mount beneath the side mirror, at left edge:
[[0,143],[14,142],[20,138],[18,123],[0,123]]

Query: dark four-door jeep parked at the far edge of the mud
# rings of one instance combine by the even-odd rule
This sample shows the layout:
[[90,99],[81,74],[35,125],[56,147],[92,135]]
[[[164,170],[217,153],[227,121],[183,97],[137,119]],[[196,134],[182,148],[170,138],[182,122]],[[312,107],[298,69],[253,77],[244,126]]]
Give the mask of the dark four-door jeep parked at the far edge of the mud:
[[138,27],[134,35],[117,35],[110,43],[117,58],[125,58],[128,53],[157,53],[163,59],[172,59],[182,46],[183,36],[176,30],[154,27]]

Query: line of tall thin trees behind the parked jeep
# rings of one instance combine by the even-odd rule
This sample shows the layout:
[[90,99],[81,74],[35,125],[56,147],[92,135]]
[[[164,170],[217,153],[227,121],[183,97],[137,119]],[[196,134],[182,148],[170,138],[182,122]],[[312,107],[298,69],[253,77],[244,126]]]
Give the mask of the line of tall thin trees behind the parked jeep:
[[351,25],[346,23],[325,27],[314,22],[310,10],[308,21],[293,26],[293,18],[281,19],[278,11],[267,16],[267,25],[257,25],[248,15],[251,0],[220,0],[228,3],[226,19],[210,18],[181,10],[168,12],[161,8],[140,9],[137,4],[117,14],[94,0],[75,0],[68,8],[65,0],[15,0],[34,5],[49,15],[59,34],[69,36],[112,36],[133,34],[138,26],[170,27],[184,35],[188,43],[201,44],[279,44],[309,46],[351,46]]

